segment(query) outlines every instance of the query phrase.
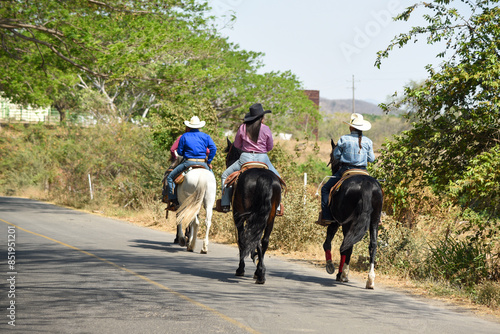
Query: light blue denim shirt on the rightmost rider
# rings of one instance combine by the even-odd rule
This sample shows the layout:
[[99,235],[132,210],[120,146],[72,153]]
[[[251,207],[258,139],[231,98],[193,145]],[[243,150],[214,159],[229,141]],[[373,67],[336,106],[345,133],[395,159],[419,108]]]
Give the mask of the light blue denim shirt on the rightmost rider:
[[373,153],[373,143],[370,138],[363,136],[361,139],[361,149],[359,148],[358,133],[352,131],[351,134],[340,137],[337,147],[333,151],[336,160],[344,164],[366,167],[368,162],[375,161]]

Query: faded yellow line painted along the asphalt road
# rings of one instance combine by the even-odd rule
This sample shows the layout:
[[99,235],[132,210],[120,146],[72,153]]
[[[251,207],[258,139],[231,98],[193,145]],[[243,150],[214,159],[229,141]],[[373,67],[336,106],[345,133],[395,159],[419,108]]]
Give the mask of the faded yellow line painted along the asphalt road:
[[155,285],[155,286],[159,287],[159,288],[160,288],[160,289],[162,289],[162,290],[168,291],[168,292],[170,292],[170,293],[172,293],[172,294],[176,295],[177,297],[180,297],[180,298],[182,298],[182,299],[184,299],[184,300],[186,300],[186,301],[190,302],[191,304],[194,304],[194,305],[196,305],[196,306],[199,306],[199,307],[201,307],[201,308],[203,308],[203,309],[205,309],[205,310],[207,310],[207,311],[209,311],[209,312],[211,312],[211,313],[215,314],[216,316],[218,316],[218,317],[220,317],[220,318],[222,318],[222,319],[226,320],[227,322],[230,322],[230,323],[232,323],[233,325],[236,325],[236,326],[238,326],[239,328],[246,330],[246,331],[247,331],[247,332],[249,332],[249,333],[255,333],[255,334],[258,334],[258,333],[259,333],[258,331],[254,330],[253,328],[248,327],[248,326],[246,326],[246,325],[242,324],[241,322],[239,322],[239,321],[237,321],[237,320],[235,320],[235,319],[233,319],[233,318],[231,318],[231,317],[228,317],[227,315],[225,315],[225,314],[223,314],[223,313],[221,313],[221,312],[219,312],[219,311],[217,311],[217,310],[215,310],[215,309],[213,309],[213,308],[211,308],[211,307],[209,307],[209,306],[207,306],[207,305],[204,305],[204,304],[202,304],[202,303],[200,303],[200,302],[197,302],[196,300],[193,300],[193,299],[189,298],[188,296],[185,296],[185,295],[183,295],[183,294],[181,294],[181,293],[179,293],[179,292],[177,292],[177,291],[174,291],[174,290],[170,289],[169,287],[167,287],[167,286],[165,286],[165,285],[163,285],[163,284],[161,284],[161,283],[158,283],[158,282],[156,282],[156,281],[153,281],[153,280],[152,280],[152,279],[150,279],[150,278],[147,278],[146,276],[143,276],[143,275],[141,275],[141,274],[138,274],[138,273],[136,273],[136,272],[135,272],[135,271],[133,271],[133,270],[130,270],[130,269],[124,268],[124,267],[122,267],[122,266],[119,266],[118,264],[116,264],[116,263],[114,263],[114,262],[112,262],[112,261],[106,260],[106,259],[104,259],[104,258],[102,258],[102,257],[99,257],[99,256],[95,255],[95,254],[92,254],[92,253],[90,253],[90,252],[84,251],[83,249],[80,249],[80,248],[78,248],[78,247],[68,245],[68,244],[66,244],[66,243],[64,243],[64,242],[62,242],[62,241],[59,241],[59,240],[53,239],[53,238],[48,237],[48,236],[46,236],[46,235],[39,234],[39,233],[36,233],[36,232],[30,231],[30,230],[27,230],[27,229],[25,229],[25,228],[19,227],[19,226],[15,225],[15,224],[9,223],[8,221],[5,221],[5,220],[3,220],[3,219],[0,219],[0,221],[3,221],[3,222],[4,222],[4,223],[6,223],[6,224],[12,225],[12,226],[14,226],[15,228],[17,228],[17,229],[19,229],[19,230],[21,230],[21,231],[28,232],[28,233],[31,233],[31,234],[36,235],[36,236],[38,236],[38,237],[45,238],[45,239],[47,239],[47,240],[53,241],[53,242],[55,242],[55,243],[58,243],[58,244],[60,244],[60,245],[62,245],[62,246],[66,246],[66,247],[68,247],[68,248],[71,248],[71,249],[74,249],[74,250],[76,250],[76,251],[79,251],[80,253],[83,253],[83,254],[85,254],[85,255],[91,256],[91,257],[93,257],[93,258],[96,258],[96,259],[98,259],[99,261],[102,261],[102,262],[104,262],[104,263],[107,263],[107,264],[109,264],[109,265],[111,265],[111,266],[113,266],[113,267],[116,267],[116,268],[120,269],[120,270],[126,271],[126,272],[128,272],[128,273],[130,273],[130,274],[132,274],[132,275],[134,275],[134,276],[136,276],[136,277],[138,277],[138,278],[140,278],[140,279],[142,279],[142,280],[144,280],[144,281],[146,281],[146,282],[148,282],[148,283],[152,284],[152,285]]

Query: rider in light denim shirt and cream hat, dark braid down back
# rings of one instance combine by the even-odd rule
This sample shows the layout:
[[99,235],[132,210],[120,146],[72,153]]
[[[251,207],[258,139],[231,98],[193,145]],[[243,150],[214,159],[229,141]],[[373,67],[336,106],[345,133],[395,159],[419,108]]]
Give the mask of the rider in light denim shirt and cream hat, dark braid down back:
[[373,143],[363,136],[363,131],[371,129],[370,122],[363,119],[363,115],[353,113],[349,123],[350,134],[340,137],[333,154],[336,160],[341,162],[337,173],[321,188],[321,212],[317,223],[328,225],[333,221],[332,214],[328,208],[330,189],[340,180],[342,174],[349,169],[366,169],[368,162],[375,161]]

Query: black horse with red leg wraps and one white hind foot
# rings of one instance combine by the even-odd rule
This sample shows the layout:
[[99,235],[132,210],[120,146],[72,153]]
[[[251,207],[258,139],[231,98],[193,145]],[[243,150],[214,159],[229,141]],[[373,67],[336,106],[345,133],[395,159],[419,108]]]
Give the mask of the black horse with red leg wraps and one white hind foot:
[[[340,161],[335,160],[333,140],[330,164],[332,175],[340,168]],[[367,289],[375,285],[375,256],[377,253],[377,236],[380,215],[382,212],[383,193],[379,182],[368,175],[354,175],[342,182],[340,188],[333,195],[329,205],[334,222],[328,226],[326,240],[323,243],[326,257],[326,271],[333,274],[335,267],[332,263],[332,239],[339,226],[342,226],[344,240],[340,246],[340,265],[337,281],[347,282],[349,262],[352,248],[360,241],[366,231],[370,231],[370,272],[368,273]]]

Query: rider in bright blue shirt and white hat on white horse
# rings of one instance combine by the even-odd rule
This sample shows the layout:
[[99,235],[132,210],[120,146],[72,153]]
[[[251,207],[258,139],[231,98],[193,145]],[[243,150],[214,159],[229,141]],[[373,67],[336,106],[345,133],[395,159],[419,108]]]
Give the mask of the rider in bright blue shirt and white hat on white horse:
[[179,206],[174,184],[177,175],[192,165],[201,165],[212,171],[211,163],[217,152],[217,147],[210,135],[199,130],[205,126],[205,121],[200,121],[198,116],[193,116],[191,120],[184,121],[184,124],[189,128],[189,131],[182,135],[177,147],[177,154],[183,156],[184,160],[167,177],[169,210],[173,211]]

